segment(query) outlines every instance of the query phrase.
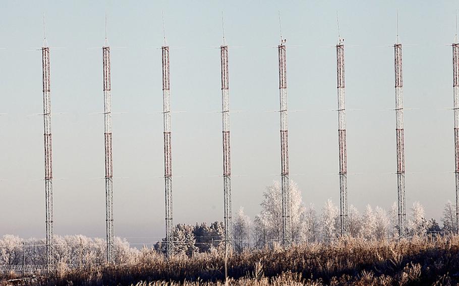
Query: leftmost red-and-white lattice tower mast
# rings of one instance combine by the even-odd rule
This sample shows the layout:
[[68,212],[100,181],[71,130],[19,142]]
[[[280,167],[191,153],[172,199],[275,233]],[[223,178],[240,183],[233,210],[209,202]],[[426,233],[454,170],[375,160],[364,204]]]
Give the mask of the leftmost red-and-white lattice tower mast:
[[51,139],[51,77],[49,68],[49,47],[44,40],[41,48],[43,69],[43,129],[44,129],[44,186],[46,224],[46,268],[52,264],[53,215],[52,215],[52,139]]

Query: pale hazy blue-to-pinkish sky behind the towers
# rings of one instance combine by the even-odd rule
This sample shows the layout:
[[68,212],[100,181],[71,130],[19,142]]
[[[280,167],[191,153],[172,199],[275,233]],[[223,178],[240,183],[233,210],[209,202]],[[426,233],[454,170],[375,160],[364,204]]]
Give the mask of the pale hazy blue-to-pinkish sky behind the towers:
[[[279,180],[278,11],[288,40],[291,178],[339,204],[336,11],[346,39],[349,203],[396,200],[393,48],[403,49],[407,205],[454,200],[456,1],[2,1],[0,235],[44,237],[42,14],[51,46],[54,231],[105,236],[102,52],[112,46],[114,233],[164,233],[161,11],[170,49],[174,223],[222,220],[221,11],[229,50],[233,210]],[[231,48],[234,47],[234,48]],[[296,112],[294,112],[296,111]],[[157,238],[155,238],[157,237]]]

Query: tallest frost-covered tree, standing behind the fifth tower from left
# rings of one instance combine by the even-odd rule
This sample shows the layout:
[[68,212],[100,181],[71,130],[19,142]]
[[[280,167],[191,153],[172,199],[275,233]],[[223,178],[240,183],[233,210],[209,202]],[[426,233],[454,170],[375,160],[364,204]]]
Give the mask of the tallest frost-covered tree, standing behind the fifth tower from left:
[[[256,244],[265,245],[268,241],[279,241],[282,236],[282,200],[281,187],[278,181],[267,186],[263,193],[261,212],[255,217],[254,231]],[[296,240],[305,238],[305,211],[300,189],[297,184],[290,181],[290,201],[292,235]]]

